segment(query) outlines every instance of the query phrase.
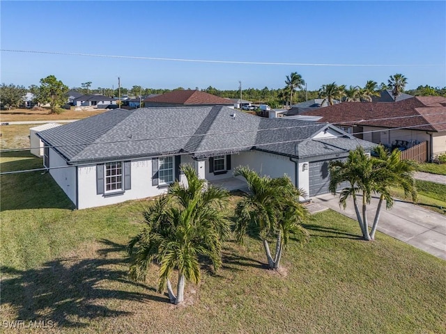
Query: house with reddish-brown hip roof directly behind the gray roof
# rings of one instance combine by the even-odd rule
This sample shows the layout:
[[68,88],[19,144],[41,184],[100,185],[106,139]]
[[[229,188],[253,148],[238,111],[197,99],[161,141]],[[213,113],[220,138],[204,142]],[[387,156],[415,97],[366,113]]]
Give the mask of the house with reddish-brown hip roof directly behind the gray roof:
[[201,90],[174,90],[155,97],[144,99],[144,106],[229,106],[233,102]]

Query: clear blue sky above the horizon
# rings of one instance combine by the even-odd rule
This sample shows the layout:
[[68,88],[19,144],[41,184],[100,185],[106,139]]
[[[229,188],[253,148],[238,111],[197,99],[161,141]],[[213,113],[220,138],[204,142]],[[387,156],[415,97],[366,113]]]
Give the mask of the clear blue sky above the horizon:
[[[67,86],[364,86],[402,73],[446,86],[446,1],[1,1],[1,49],[270,63],[195,63],[1,51],[1,82]],[[402,66],[440,65],[440,66]]]

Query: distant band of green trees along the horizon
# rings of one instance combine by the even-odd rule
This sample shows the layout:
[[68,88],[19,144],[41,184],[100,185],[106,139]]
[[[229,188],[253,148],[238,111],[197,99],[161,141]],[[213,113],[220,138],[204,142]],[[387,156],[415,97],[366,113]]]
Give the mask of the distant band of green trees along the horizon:
[[[148,96],[151,94],[164,94],[172,90],[185,90],[192,88],[178,87],[174,89],[166,88],[143,88],[142,86],[134,85],[132,88],[91,88],[92,81],[86,81],[80,87],[68,88],[61,80],[56,79],[54,75],[49,75],[46,78],[40,79],[40,85],[31,85],[25,88],[21,85],[15,84],[1,84],[1,106],[3,108],[17,108],[23,104],[26,93],[33,93],[34,103],[49,104],[53,110],[56,110],[66,104],[67,93],[69,90],[76,90],[79,93],[100,94],[107,97],[129,97]],[[403,74],[391,75],[387,80],[387,84],[381,82],[378,85],[376,81],[369,80],[364,87],[360,86],[346,86],[344,84],[337,84],[332,82],[330,84],[323,84],[318,90],[304,90],[305,80],[298,72],[292,72],[286,75],[284,81],[284,88],[245,88],[242,90],[243,100],[252,101],[254,104],[268,104],[272,108],[280,108],[283,106],[291,106],[298,102],[322,98],[328,104],[334,102],[369,102],[372,97],[379,96],[381,90],[390,89],[392,95],[396,98],[401,93],[408,93],[410,95],[439,95],[446,97],[446,87],[435,88],[429,85],[419,86],[416,89],[405,90],[407,79]],[[198,87],[194,89],[199,90]],[[232,99],[240,98],[240,90],[219,90],[213,86],[201,89],[201,91],[217,95],[220,97],[229,97]]]

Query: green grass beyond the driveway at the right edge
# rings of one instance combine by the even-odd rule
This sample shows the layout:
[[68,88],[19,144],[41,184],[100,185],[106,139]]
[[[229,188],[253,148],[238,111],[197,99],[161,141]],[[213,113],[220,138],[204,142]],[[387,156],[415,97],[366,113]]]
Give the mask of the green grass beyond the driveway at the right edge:
[[[422,180],[415,180],[415,184],[418,191],[417,205],[446,215],[446,184]],[[410,198],[406,198],[402,189],[392,188],[392,194],[394,197],[412,202]]]

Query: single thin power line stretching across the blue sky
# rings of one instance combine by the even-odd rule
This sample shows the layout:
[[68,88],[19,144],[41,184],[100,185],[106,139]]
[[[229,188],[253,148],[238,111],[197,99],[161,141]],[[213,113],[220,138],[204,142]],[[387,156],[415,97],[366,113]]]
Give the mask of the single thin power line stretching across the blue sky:
[[59,51],[36,51],[20,49],[0,49],[3,52],[20,52],[24,54],[53,54],[59,56],[84,56],[100,58],[125,58],[138,59],[144,61],[181,61],[190,63],[220,63],[220,64],[243,64],[243,65],[292,65],[292,66],[333,66],[333,67],[445,67],[445,64],[330,64],[330,63],[279,63],[263,61],[213,61],[209,59],[187,59],[187,58],[160,58],[147,56],[119,56],[107,54],[84,54],[78,52],[59,52]]

